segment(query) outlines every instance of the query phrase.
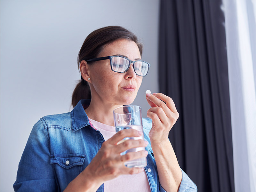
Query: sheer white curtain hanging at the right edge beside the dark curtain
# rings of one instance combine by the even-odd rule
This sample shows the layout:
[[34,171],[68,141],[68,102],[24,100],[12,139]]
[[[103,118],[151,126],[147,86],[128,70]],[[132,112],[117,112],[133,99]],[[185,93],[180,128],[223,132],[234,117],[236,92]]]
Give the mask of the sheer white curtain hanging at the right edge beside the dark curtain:
[[235,191],[256,191],[256,1],[223,0]]

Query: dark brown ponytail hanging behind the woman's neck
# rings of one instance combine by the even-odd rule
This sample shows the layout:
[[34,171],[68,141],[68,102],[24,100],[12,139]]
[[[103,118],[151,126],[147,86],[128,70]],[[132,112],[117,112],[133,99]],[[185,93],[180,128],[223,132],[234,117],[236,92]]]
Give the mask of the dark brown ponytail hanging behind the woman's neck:
[[92,95],[91,95],[90,87],[88,83],[81,76],[81,81],[76,85],[76,88],[72,94],[72,106],[75,107],[76,104],[81,99],[91,99],[91,98],[92,98]]

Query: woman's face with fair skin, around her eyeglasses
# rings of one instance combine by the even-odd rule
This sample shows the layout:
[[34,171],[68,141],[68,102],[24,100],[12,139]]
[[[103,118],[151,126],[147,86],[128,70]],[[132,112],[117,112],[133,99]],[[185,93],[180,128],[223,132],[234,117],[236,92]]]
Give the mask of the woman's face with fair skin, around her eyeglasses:
[[[105,45],[98,57],[111,55],[124,56],[130,60],[140,60],[137,44],[126,39],[119,39]],[[88,66],[90,87],[93,99],[115,105],[131,104],[140,88],[142,76],[136,75],[132,64],[125,73],[111,70],[110,60],[96,61]]]

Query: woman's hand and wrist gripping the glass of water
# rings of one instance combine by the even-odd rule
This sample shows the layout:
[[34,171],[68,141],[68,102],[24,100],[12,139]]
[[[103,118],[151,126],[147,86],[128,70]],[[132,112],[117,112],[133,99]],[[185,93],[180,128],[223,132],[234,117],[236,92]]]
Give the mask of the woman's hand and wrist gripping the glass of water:
[[[146,157],[147,151],[142,150],[120,155],[131,148],[146,147],[148,142],[144,140],[123,140],[125,137],[139,137],[142,134],[142,132],[134,129],[117,132],[102,144],[91,163],[73,180],[76,180],[75,182],[70,182],[65,191],[96,191],[107,180],[112,180],[122,174],[136,174],[143,171],[143,168],[128,168],[124,162]],[[81,188],[77,188],[78,186]]]

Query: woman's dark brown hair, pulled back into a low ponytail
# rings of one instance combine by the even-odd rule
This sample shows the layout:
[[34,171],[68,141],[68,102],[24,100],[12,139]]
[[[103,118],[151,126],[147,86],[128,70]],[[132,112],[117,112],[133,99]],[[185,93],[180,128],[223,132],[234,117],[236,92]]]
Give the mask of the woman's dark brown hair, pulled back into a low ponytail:
[[[117,39],[134,41],[138,45],[140,56],[142,55],[142,44],[138,42],[137,36],[135,36],[132,32],[121,26],[103,27],[90,33],[90,35],[88,35],[84,40],[84,44],[82,45],[77,57],[78,68],[82,60],[97,58],[104,45],[110,44]],[[88,64],[92,63],[88,62]],[[76,85],[76,88],[72,94],[72,106],[75,107],[81,99],[91,98],[90,87],[81,76],[81,81]]]

